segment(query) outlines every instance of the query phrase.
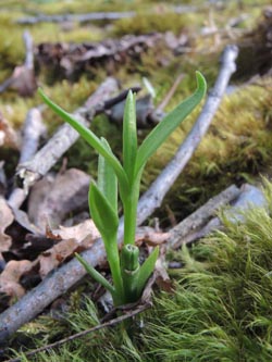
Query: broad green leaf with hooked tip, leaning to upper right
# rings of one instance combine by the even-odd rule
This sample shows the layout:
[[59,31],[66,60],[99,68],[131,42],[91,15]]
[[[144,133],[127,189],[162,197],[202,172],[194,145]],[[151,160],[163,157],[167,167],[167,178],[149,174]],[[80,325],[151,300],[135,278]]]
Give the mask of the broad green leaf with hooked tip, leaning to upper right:
[[196,72],[197,89],[193,96],[180,103],[163,121],[161,121],[147,136],[138,149],[136,160],[136,174],[146,164],[147,160],[163,143],[170,134],[182,123],[182,121],[197,107],[206,93],[206,80],[200,72]]

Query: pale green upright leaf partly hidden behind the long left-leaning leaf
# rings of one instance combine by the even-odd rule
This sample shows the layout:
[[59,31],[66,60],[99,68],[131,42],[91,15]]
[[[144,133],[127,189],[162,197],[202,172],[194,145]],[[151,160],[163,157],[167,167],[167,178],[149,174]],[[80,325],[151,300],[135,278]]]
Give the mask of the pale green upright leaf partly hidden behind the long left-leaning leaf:
[[[101,138],[101,142],[112,153],[111,147],[104,138]],[[99,154],[98,158],[98,179],[97,186],[109,201],[113,211],[118,214],[118,179],[114,170],[109,162]]]

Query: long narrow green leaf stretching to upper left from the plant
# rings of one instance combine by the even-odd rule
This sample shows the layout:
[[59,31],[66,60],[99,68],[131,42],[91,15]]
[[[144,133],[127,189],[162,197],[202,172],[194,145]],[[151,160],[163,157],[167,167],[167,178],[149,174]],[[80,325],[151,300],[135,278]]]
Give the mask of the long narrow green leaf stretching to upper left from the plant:
[[113,167],[122,188],[126,189],[128,180],[116,157],[108,150],[108,148],[100,141],[100,139],[90,129],[81,124],[75,117],[73,117],[70,113],[65,112],[61,107],[52,102],[40,88],[38,89],[38,92],[41,96],[45,103],[47,103],[59,116],[61,116],[63,121],[69,123],[76,132],[78,132],[78,134],[91,147],[94,147],[102,157],[104,157],[104,159]]

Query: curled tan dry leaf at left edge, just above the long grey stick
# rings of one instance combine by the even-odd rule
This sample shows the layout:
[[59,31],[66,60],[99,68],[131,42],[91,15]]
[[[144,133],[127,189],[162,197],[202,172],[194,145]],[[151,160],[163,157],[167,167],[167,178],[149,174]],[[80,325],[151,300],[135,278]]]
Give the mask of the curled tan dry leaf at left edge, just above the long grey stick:
[[21,298],[25,289],[20,284],[20,278],[29,272],[33,263],[29,260],[10,261],[0,275],[0,292],[13,298]]

